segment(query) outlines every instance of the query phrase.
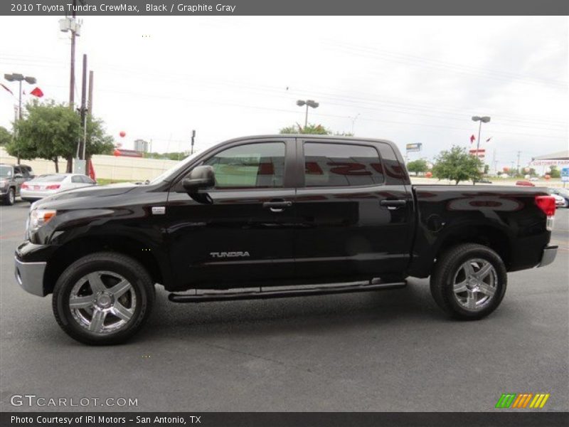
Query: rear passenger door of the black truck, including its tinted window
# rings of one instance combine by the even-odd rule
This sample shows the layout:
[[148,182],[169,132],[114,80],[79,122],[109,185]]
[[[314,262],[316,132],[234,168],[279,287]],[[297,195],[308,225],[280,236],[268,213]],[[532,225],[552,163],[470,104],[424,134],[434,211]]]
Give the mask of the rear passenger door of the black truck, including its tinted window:
[[412,199],[392,176],[393,158],[385,154],[383,162],[384,149],[341,139],[297,144],[305,165],[304,188],[294,201],[300,276],[370,278],[405,270]]

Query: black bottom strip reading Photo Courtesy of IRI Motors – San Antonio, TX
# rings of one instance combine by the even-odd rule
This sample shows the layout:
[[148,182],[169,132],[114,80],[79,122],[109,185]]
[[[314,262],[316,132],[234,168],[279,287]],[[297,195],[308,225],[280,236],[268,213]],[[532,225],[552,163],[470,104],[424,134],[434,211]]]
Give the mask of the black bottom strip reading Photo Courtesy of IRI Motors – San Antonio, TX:
[[4,412],[3,427],[568,426],[563,412]]

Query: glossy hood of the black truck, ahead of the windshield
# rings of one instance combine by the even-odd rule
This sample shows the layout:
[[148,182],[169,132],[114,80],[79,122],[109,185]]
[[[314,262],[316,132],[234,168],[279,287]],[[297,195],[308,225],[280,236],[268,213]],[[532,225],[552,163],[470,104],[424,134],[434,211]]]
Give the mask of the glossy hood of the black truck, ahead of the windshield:
[[[140,188],[140,185],[132,182],[103,186],[85,186],[78,189],[61,191],[60,193],[53,194],[53,196],[38,200],[33,204],[33,207],[67,208],[72,207],[71,205],[75,207],[84,204],[85,199],[93,200],[99,197],[119,196],[135,188]],[[95,201],[95,204],[96,203],[97,201]],[[98,203],[100,203],[100,201]]]

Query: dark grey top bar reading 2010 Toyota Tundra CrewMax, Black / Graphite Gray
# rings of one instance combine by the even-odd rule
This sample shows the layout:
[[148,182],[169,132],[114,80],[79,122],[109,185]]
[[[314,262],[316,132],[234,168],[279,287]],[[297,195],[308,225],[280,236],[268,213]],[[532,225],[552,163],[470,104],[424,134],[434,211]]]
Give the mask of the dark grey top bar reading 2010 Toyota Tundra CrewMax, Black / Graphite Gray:
[[[2,0],[0,15],[63,16],[71,14],[73,0]],[[75,1],[84,16],[544,16],[569,15],[566,0],[84,0]]]

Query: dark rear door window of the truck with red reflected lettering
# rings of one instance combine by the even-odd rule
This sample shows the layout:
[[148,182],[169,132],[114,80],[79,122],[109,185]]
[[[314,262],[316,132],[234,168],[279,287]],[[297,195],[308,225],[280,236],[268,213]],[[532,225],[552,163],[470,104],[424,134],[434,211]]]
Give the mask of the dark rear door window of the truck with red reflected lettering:
[[352,144],[304,144],[304,183],[312,186],[383,184],[383,168],[373,147]]

